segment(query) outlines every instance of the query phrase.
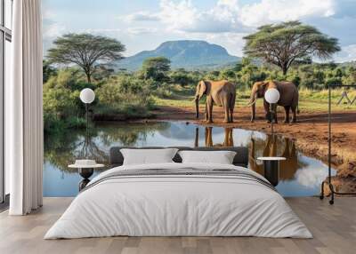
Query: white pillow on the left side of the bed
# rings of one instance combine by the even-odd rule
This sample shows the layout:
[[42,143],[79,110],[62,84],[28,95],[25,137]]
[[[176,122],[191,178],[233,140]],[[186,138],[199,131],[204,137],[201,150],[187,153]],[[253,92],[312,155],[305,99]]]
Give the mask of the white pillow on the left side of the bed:
[[177,153],[177,148],[164,149],[120,149],[124,156],[123,165],[151,164],[151,163],[174,163],[172,160]]

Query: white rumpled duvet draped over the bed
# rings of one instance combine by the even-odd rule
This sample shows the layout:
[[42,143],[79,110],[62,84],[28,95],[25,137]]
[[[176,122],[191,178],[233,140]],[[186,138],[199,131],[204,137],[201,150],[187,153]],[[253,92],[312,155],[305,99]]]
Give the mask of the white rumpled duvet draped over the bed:
[[[91,183],[114,171],[187,166],[258,175],[226,164],[162,163],[117,167]],[[78,194],[44,239],[114,235],[312,237],[287,202],[258,182],[219,176],[145,176],[108,179]]]

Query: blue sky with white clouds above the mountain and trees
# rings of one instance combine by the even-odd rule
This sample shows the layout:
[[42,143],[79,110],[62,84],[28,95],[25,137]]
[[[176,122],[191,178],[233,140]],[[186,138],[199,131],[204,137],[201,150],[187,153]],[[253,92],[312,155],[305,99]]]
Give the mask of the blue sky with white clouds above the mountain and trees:
[[339,39],[336,61],[356,60],[356,0],[43,0],[44,50],[68,32],[117,38],[125,56],[167,40],[199,39],[241,56],[243,36],[302,20]]

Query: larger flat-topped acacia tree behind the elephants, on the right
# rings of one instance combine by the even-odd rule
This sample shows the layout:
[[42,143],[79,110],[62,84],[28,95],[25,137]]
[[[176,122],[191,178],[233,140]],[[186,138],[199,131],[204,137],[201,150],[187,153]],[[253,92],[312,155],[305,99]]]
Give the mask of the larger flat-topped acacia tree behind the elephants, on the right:
[[326,60],[341,50],[336,38],[300,21],[265,25],[244,39],[247,41],[244,52],[248,57],[280,67],[283,75],[295,61],[313,56]]

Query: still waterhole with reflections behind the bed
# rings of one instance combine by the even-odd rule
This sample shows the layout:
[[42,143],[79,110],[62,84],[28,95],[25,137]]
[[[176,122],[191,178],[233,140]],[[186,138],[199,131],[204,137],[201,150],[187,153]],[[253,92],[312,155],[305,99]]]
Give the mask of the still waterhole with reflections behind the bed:
[[[110,123],[85,131],[61,132],[44,140],[44,196],[75,196],[81,177],[69,169],[76,158],[93,158],[108,164],[113,146],[186,146],[249,147],[248,167],[263,174],[259,156],[284,156],[280,163],[277,189],[283,196],[319,194],[320,182],[326,179],[328,167],[295,148],[295,142],[283,137],[271,138],[259,131],[222,127],[205,127],[183,122]],[[105,169],[94,171],[93,176]],[[333,171],[335,174],[336,171]]]

